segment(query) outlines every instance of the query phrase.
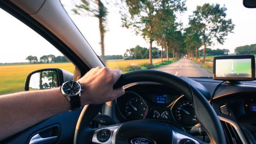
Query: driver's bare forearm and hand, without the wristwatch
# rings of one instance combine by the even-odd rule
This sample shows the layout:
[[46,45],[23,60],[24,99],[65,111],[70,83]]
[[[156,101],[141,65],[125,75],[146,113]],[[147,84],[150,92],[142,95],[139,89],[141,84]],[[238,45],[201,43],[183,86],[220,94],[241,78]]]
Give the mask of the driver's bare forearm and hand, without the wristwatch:
[[[91,69],[79,80],[84,86],[81,105],[102,104],[123,95],[123,87],[113,89],[121,75],[121,70]],[[0,140],[70,108],[70,102],[61,94],[60,88],[2,95]]]

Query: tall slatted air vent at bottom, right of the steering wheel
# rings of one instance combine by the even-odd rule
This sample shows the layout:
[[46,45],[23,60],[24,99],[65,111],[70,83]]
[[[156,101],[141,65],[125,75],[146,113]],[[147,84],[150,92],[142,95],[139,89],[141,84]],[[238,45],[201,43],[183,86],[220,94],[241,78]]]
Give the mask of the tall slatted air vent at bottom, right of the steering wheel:
[[236,129],[229,123],[221,121],[224,133],[226,136],[227,144],[243,144]]

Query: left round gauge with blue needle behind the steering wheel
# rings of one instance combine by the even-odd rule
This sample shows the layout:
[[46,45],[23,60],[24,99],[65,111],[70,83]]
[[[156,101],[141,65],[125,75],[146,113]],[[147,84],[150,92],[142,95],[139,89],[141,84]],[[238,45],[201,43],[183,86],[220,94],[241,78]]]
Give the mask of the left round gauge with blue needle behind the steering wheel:
[[130,120],[145,118],[148,112],[148,105],[140,97],[131,98],[125,105],[125,112]]

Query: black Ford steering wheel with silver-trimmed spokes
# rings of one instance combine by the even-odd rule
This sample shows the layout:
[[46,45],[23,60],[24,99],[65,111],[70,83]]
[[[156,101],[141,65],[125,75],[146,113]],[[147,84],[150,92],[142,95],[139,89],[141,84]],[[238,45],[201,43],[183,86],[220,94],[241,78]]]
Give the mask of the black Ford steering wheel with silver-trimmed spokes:
[[[200,122],[206,130],[210,138],[210,143],[226,144],[220,120],[207,99],[192,85],[175,75],[156,70],[128,72],[121,75],[113,88],[142,81],[156,82],[177,89],[186,98],[193,101],[197,121]],[[76,125],[74,144],[205,143],[172,125],[153,120],[128,121],[108,127],[91,129],[90,123],[102,109],[102,106],[103,104],[84,106]]]

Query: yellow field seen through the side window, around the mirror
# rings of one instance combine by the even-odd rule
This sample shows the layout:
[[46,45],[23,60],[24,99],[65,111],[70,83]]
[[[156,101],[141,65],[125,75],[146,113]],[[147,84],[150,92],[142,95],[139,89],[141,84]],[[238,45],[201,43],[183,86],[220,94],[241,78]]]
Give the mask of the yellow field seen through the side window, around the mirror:
[[72,63],[44,63],[0,66],[0,95],[24,90],[26,76],[37,69],[60,68],[74,72]]

